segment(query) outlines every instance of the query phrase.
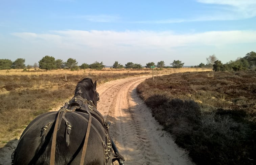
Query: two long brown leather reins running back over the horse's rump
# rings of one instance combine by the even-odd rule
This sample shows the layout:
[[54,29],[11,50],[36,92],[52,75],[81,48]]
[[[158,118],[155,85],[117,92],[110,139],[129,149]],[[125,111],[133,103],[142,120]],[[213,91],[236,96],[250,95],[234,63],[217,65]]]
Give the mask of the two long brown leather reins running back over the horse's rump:
[[[74,97],[74,98],[75,98],[75,100],[78,99],[76,97]],[[73,100],[73,99],[71,99],[71,100]],[[79,100],[81,100],[81,99],[79,98]],[[87,111],[87,113],[89,114],[89,121],[88,121],[87,129],[86,129],[86,136],[85,136],[85,141],[84,141],[84,145],[83,145],[80,165],[83,165],[84,161],[85,161],[86,148],[87,148],[87,144],[88,144],[88,139],[89,139],[89,134],[90,134],[90,129],[91,129],[91,123],[92,123],[92,114],[90,113],[89,109],[92,110],[93,107],[95,108],[95,105],[92,104],[91,101],[87,101],[86,99],[84,99],[84,103],[85,102],[88,103],[88,107],[83,108],[83,109],[85,109]],[[82,108],[82,107],[80,106],[80,108]],[[59,112],[58,112],[56,121],[55,121],[55,126],[54,126],[54,130],[53,130],[53,135],[52,135],[52,143],[51,143],[50,165],[54,165],[54,163],[55,163],[56,137],[57,137],[58,123],[59,123],[60,114],[61,114],[61,112],[65,113],[67,110],[68,109],[65,109],[65,108],[60,109]],[[76,108],[72,108],[71,110],[68,110],[68,111],[74,112],[75,110],[76,110]]]

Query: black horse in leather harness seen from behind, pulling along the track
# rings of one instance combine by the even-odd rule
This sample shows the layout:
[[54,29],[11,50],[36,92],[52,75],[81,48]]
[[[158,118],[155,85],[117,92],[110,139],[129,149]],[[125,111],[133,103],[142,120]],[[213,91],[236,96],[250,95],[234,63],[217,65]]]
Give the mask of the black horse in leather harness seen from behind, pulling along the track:
[[97,111],[96,81],[77,83],[74,97],[57,112],[32,120],[12,155],[14,165],[110,165],[123,157]]

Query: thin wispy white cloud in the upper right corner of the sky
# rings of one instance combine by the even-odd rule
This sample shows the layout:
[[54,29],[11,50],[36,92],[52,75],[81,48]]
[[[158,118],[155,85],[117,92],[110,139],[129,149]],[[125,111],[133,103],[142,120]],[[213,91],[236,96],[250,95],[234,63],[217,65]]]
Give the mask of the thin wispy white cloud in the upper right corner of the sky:
[[[141,24],[172,24],[182,22],[202,22],[202,21],[226,21],[241,20],[253,18],[256,16],[255,0],[197,0],[199,3],[205,3],[214,6],[214,10],[210,14],[201,13],[200,15],[192,15],[191,18],[180,19],[163,19],[136,21],[132,23]],[[217,6],[216,6],[217,5]],[[203,15],[203,16],[202,16]]]

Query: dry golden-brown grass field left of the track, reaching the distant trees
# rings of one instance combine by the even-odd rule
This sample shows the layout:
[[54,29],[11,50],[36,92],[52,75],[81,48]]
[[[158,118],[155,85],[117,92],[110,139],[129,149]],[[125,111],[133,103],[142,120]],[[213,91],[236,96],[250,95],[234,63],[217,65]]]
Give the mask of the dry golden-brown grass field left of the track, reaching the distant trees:
[[[154,74],[197,72],[194,68],[155,70]],[[71,99],[78,81],[85,77],[101,84],[128,76],[150,75],[152,70],[0,70],[0,148],[19,138],[27,124],[39,114],[58,110]],[[65,81],[67,75],[67,81]]]

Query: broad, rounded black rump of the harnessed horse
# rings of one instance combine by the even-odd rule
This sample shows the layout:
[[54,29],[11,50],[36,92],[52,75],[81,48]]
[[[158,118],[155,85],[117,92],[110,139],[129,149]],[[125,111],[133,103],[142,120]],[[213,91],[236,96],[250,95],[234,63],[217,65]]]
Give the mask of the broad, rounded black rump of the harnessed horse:
[[[58,113],[48,112],[30,122],[22,133],[16,148],[17,153],[15,155],[18,157],[15,157],[14,164],[16,162],[24,165],[49,164],[52,134]],[[88,119],[88,113],[72,111],[65,111],[59,118],[55,164],[80,163]],[[92,116],[85,164],[111,164],[109,160],[112,159],[113,150],[109,144],[110,141],[107,129]]]

